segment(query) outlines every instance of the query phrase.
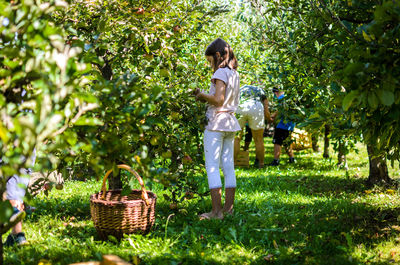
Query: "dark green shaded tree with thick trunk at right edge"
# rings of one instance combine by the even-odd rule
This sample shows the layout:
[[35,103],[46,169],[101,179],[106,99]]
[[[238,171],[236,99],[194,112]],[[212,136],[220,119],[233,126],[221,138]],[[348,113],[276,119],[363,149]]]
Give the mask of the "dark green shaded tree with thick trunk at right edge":
[[[332,130],[345,141],[361,137],[370,158],[368,181],[390,182],[386,158],[399,160],[399,4],[251,3],[265,15],[261,33],[278,62],[290,65],[297,83],[292,95],[306,102],[300,104],[304,118],[334,121]],[[321,98],[328,104],[320,104]]]

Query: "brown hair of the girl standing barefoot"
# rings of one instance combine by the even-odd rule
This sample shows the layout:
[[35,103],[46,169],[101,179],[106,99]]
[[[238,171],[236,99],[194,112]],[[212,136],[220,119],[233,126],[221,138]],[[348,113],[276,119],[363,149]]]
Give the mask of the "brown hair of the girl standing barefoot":
[[[217,52],[220,55],[219,58],[217,56]],[[229,44],[221,38],[214,40],[210,45],[208,45],[205,55],[212,56],[214,58],[214,71],[216,71],[218,68],[224,67],[229,67],[230,69],[236,70],[238,67],[238,62],[231,46],[229,46]]]

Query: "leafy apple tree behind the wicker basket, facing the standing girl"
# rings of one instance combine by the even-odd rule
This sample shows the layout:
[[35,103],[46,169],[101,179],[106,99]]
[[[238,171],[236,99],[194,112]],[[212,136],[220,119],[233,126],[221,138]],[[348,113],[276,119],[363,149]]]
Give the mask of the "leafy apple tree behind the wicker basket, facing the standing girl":
[[[97,71],[90,75],[91,94],[100,105],[85,115],[91,126],[68,130],[86,144],[64,159],[65,167],[102,175],[127,163],[174,191],[196,190],[191,176],[203,173],[205,109],[191,89],[208,85],[206,29],[221,12],[202,1],[114,0],[76,1],[58,13],[68,41],[84,47]],[[111,187],[120,188],[120,177],[113,179]]]

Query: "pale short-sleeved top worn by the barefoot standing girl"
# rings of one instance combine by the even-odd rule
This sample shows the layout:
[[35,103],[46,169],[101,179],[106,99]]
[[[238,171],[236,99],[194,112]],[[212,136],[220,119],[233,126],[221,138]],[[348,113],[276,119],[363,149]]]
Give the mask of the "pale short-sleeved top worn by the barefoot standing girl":
[[[211,77],[211,81],[214,79],[221,80],[225,83],[225,99],[221,107],[216,107],[211,104],[207,106],[206,116],[208,124],[206,129],[225,132],[240,131],[239,122],[235,117],[235,112],[239,106],[239,74],[236,70],[231,70],[228,67],[219,68]],[[214,94],[215,83],[211,82],[209,95]]]

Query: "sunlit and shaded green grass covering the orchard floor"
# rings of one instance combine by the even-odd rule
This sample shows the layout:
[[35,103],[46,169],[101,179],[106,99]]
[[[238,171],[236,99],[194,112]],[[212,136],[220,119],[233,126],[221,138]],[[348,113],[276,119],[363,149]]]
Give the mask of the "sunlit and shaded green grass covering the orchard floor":
[[[272,145],[265,141],[268,163]],[[399,191],[364,186],[368,159],[359,147],[348,156],[348,174],[309,150],[296,153],[295,165],[283,155],[280,167],[238,169],[235,213],[223,221],[198,220],[211,207],[208,197],[173,211],[153,186],[153,231],[120,243],[100,241],[90,220],[89,196],[100,183],[67,182],[62,191],[36,197],[38,209],[24,224],[30,245],[6,248],[5,264],[69,264],[103,254],[135,264],[400,263]],[[398,165],[390,175],[399,178]]]

